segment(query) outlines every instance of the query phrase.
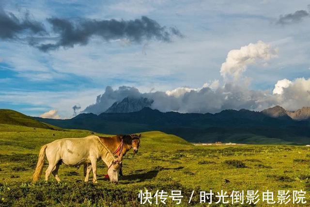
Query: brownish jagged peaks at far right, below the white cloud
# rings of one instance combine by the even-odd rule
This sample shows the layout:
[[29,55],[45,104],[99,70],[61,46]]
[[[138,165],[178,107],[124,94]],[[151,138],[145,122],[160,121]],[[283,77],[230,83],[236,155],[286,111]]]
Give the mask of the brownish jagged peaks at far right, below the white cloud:
[[294,120],[306,120],[310,119],[310,107],[303,107],[296,111],[287,111],[280,106],[265,109],[261,111],[263,114],[279,119],[294,119]]

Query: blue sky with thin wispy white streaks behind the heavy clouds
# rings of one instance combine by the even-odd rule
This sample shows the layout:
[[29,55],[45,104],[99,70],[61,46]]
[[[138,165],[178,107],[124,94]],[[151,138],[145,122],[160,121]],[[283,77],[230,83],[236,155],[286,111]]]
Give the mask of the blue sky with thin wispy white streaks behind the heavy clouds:
[[[0,39],[0,108],[33,116],[56,110],[62,118],[68,118],[73,115],[74,105],[83,110],[95,103],[96,96],[103,94],[107,86],[116,90],[122,85],[149,93],[180,87],[199,91],[205,83],[210,85],[218,81],[224,87],[233,82],[245,85],[249,91],[263,91],[273,96],[278,80],[295,83],[298,78],[305,78],[305,81],[310,78],[309,1],[280,2],[2,0],[2,14],[12,13],[20,22],[28,16],[31,21],[42,24],[46,33],[25,30],[14,38]],[[294,15],[299,10],[305,11],[305,15]],[[291,16],[285,16],[289,14]],[[141,16],[156,21],[167,31],[175,28],[182,35],[171,33],[170,41],[156,38],[133,41],[126,36],[107,40],[92,35],[86,44],[60,46],[48,51],[42,51],[28,41],[30,37],[44,38],[38,44],[54,44],[59,40],[61,34],[53,31],[49,18],[70,22],[80,19],[129,21],[141,19]],[[241,65],[245,67],[241,76],[235,79],[232,78],[234,74],[227,72],[232,77],[224,78],[220,70],[228,53],[258,41],[268,46],[266,49],[274,55],[248,59]],[[308,82],[301,84],[307,91]],[[263,99],[269,100],[269,95]],[[294,99],[287,96],[273,96],[277,101],[248,108],[262,109]],[[304,106],[308,96],[306,93],[307,99],[286,107]],[[255,102],[261,102],[261,99]],[[226,105],[218,110],[225,109]],[[239,105],[233,108],[238,109]],[[192,111],[186,108],[180,112]]]

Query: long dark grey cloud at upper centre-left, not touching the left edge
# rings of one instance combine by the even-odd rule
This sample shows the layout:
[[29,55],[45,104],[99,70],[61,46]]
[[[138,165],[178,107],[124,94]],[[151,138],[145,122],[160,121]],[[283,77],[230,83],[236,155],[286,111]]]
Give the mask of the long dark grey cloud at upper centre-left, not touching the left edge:
[[128,21],[115,19],[69,21],[61,18],[49,18],[47,21],[52,25],[53,32],[59,35],[59,40],[56,43],[37,45],[36,47],[42,51],[86,45],[92,36],[99,36],[105,41],[126,38],[137,43],[145,39],[170,42],[172,35],[183,36],[176,28],[162,27],[146,16]]

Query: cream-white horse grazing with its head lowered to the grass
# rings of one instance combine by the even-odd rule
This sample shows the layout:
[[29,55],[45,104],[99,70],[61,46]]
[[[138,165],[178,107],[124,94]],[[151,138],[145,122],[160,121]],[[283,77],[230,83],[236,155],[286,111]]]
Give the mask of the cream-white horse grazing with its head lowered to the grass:
[[[48,160],[48,168],[45,172],[46,181],[50,173],[52,173],[55,179],[60,182],[58,170],[62,163],[71,166],[79,166],[91,162],[93,183],[97,183],[97,160],[102,159],[109,167],[108,175],[111,183],[118,182],[118,174],[122,161],[116,159],[97,136],[60,139],[42,146],[32,182],[36,182],[42,174],[45,155]],[[91,169],[87,170],[90,171]],[[85,177],[84,181],[88,181],[88,176]]]

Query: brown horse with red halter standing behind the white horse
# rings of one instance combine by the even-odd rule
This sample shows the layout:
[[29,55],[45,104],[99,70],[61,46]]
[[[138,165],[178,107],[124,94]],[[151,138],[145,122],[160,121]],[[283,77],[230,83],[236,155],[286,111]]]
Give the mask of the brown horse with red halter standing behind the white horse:
[[[118,157],[118,160],[121,161],[124,155],[133,148],[134,154],[138,153],[140,146],[141,134],[128,134],[128,135],[116,135],[113,137],[100,137],[100,140],[108,147],[108,149]],[[92,164],[84,164],[84,176],[89,176],[92,171]],[[120,167],[119,174],[122,176],[122,164]]]

